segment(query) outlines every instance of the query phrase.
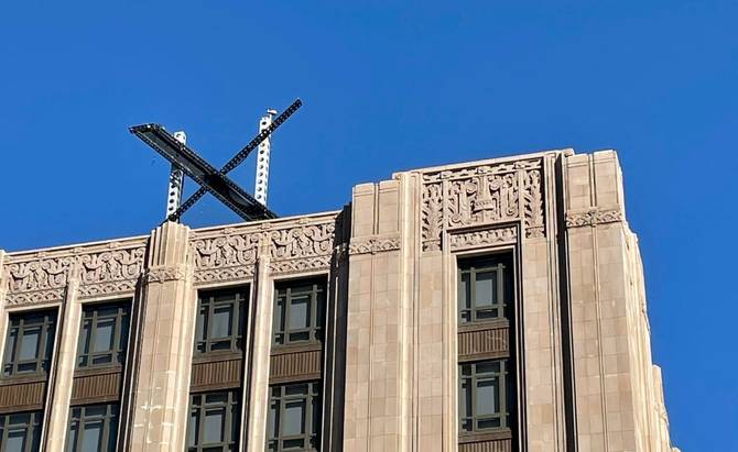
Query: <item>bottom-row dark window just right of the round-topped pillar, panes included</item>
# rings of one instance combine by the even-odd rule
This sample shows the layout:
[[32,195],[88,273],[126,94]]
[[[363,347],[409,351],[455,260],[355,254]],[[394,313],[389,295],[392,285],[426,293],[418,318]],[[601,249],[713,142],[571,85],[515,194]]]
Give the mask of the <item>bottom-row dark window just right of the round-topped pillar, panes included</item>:
[[239,398],[238,390],[189,396],[187,451],[238,450],[239,419],[241,418]]

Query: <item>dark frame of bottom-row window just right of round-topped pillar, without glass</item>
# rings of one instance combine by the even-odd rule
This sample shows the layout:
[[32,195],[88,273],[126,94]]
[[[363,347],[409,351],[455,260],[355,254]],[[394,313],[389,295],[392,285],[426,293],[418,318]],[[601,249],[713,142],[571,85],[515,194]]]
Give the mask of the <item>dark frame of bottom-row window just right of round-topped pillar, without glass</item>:
[[[207,401],[208,396],[226,395],[225,401]],[[197,401],[196,401],[197,400]],[[241,392],[240,389],[215,390],[207,393],[194,393],[189,395],[189,409],[187,417],[187,429],[185,438],[185,448],[187,452],[204,452],[214,448],[220,448],[221,451],[238,451],[241,436]],[[202,443],[198,444],[200,438],[205,438],[205,425],[207,419],[207,411],[209,409],[221,408],[225,410],[224,425],[221,426],[223,441],[218,443]],[[234,411],[237,416],[234,419]],[[194,444],[191,445],[191,419],[195,415],[195,426],[197,431],[194,432]],[[234,422],[236,425],[234,426]],[[231,437],[230,439],[228,437]]]

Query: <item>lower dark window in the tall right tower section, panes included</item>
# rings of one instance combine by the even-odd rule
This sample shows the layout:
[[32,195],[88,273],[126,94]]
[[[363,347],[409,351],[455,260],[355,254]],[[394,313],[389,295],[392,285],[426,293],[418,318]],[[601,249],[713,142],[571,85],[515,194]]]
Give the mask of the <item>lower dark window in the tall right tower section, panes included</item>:
[[508,360],[459,364],[459,433],[510,427],[512,385],[508,377]]

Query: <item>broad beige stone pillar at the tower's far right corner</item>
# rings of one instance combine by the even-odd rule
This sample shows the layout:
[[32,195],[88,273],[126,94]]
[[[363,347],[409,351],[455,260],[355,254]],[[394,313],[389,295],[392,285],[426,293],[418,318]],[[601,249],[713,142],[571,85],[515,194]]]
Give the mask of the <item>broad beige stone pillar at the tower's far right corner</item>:
[[659,450],[645,299],[612,151],[565,164],[577,440],[582,451]]

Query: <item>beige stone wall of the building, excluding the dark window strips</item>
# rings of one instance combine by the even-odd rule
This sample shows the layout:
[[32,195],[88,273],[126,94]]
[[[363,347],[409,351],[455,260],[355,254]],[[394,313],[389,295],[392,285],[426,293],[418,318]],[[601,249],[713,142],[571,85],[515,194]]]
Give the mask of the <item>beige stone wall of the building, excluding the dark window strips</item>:
[[671,450],[614,152],[398,173],[356,186],[343,213],[0,251],[0,332],[8,311],[59,307],[44,436],[61,450],[82,306],[133,299],[120,448],[181,451],[196,290],[250,284],[241,450],[263,450],[273,283],[329,275],[324,450],[502,452],[458,445],[456,300],[457,260],[501,250],[518,283],[518,449]]

